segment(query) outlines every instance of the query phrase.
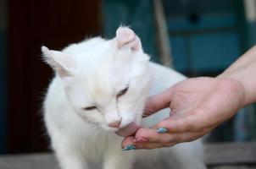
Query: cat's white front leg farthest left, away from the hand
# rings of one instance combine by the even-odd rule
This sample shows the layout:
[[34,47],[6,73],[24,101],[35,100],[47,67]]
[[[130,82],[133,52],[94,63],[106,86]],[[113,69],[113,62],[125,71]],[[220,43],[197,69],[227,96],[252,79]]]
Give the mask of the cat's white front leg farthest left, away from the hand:
[[62,169],[88,169],[79,144],[67,137],[52,137],[53,150]]

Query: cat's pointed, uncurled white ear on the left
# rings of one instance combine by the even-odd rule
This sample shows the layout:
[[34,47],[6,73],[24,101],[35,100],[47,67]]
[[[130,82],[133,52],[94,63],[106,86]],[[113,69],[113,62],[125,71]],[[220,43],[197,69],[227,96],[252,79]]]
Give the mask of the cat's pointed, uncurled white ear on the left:
[[72,76],[75,71],[75,59],[64,52],[49,50],[46,46],[42,46],[42,57],[61,78]]

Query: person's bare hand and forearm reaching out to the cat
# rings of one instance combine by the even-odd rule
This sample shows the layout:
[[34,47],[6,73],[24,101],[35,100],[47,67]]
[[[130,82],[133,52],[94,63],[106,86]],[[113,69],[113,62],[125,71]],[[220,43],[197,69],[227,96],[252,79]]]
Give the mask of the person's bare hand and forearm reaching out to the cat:
[[[145,116],[170,107],[170,117],[151,128],[120,131],[122,147],[155,149],[189,142],[209,134],[237,111],[256,101],[256,46],[215,78],[186,79],[148,98]],[[156,132],[166,128],[164,134]]]

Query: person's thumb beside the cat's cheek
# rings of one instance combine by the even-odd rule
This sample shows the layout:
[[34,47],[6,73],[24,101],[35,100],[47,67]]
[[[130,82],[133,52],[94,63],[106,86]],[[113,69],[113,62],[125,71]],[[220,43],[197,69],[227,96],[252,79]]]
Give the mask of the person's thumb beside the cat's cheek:
[[173,88],[170,87],[157,95],[149,96],[145,103],[143,117],[150,116],[155,112],[159,112],[160,110],[169,107],[172,91]]

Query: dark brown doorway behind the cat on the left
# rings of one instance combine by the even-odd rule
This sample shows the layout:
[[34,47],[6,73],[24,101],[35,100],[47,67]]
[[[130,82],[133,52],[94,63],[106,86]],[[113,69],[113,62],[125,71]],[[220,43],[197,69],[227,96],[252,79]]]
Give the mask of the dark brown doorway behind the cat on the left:
[[8,2],[8,153],[47,150],[42,98],[53,75],[42,62],[42,45],[61,49],[101,33],[101,2]]

